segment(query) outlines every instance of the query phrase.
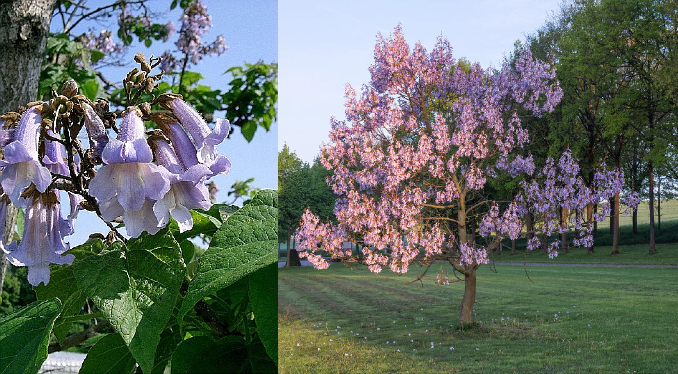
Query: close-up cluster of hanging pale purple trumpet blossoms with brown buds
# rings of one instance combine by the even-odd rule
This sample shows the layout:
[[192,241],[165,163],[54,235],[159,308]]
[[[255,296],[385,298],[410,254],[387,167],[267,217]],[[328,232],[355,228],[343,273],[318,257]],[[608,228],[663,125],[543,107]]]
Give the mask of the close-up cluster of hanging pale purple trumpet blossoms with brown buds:
[[[0,240],[0,249],[15,266],[28,266],[32,285],[49,282],[49,264],[73,262],[73,255],[63,255],[69,249],[64,237],[73,233],[79,209],[106,221],[122,217],[133,237],[155,234],[170,217],[185,232],[193,228],[189,209],[211,206],[205,182],[231,168],[216,150],[228,135],[228,121],[218,119],[211,129],[179,95],[157,98],[169,112],[154,112],[148,103],[127,107],[117,137],[109,140],[106,127],[115,114],[106,112],[108,104],[75,95],[75,82],[62,92],[66,96],[28,104],[22,115],[1,117],[0,227],[10,202],[24,208],[26,218],[21,241]],[[154,121],[159,130],[147,136],[144,121]],[[83,124],[87,150],[69,141]],[[68,195],[66,218],[57,188]]]

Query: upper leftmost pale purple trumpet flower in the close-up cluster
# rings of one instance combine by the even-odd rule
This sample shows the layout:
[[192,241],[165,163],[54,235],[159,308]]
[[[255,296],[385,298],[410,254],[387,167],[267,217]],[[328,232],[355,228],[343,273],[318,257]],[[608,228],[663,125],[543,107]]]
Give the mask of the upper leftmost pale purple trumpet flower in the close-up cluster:
[[24,113],[14,133],[14,141],[3,147],[4,160],[0,160],[0,185],[9,196],[9,200],[19,207],[26,206],[21,192],[35,184],[40,192],[45,192],[52,181],[49,169],[40,165],[38,159],[38,141],[42,116],[35,106]]

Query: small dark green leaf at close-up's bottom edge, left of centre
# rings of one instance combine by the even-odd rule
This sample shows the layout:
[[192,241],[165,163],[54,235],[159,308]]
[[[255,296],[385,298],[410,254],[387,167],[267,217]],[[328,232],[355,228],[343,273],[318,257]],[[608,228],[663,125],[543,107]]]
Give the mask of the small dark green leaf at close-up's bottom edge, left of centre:
[[108,334],[89,348],[80,373],[132,373],[136,360],[118,333]]

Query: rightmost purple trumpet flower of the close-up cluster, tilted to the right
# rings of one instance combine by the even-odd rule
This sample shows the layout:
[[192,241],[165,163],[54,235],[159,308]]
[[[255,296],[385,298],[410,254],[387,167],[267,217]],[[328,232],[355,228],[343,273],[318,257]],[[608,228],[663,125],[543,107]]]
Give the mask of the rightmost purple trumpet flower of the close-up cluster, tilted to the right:
[[[213,173],[216,171],[213,169],[213,165],[215,167],[224,165],[224,159],[226,158],[219,154],[216,146],[221,144],[226,139],[226,136],[228,136],[228,131],[231,130],[231,123],[228,123],[226,119],[217,119],[214,129],[210,129],[205,119],[192,106],[180,98],[174,98],[174,100],[170,101],[169,108],[174,112],[174,115],[176,115],[181,124],[186,127],[186,131],[193,137],[195,148],[197,148],[198,161],[209,167]],[[220,159],[220,156],[223,159]],[[227,173],[230,166],[231,163],[229,162],[228,168],[218,172]]]

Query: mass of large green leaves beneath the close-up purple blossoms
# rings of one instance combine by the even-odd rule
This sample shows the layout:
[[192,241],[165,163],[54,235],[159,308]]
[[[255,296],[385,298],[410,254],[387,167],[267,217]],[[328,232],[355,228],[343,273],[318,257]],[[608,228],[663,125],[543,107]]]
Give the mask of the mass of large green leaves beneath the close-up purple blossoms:
[[[39,301],[1,321],[2,373],[36,373],[50,333],[64,344],[75,321],[92,318],[117,332],[85,341],[94,346],[83,373],[277,372],[276,192],[191,214],[192,230],[171,222],[126,243],[94,238],[68,251],[73,266],[52,264]],[[210,243],[205,253],[195,238]],[[88,299],[96,310],[83,314]],[[184,354],[206,345],[210,354]]]

